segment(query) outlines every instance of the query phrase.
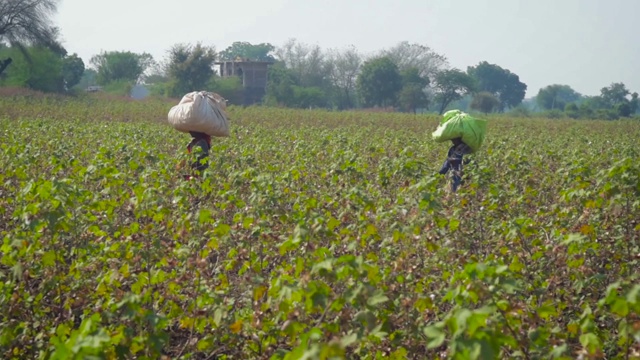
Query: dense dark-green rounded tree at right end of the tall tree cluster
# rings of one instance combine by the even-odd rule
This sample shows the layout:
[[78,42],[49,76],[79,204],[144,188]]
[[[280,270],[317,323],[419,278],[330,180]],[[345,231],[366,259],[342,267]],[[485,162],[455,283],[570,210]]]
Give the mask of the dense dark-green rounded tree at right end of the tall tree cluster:
[[477,91],[486,91],[498,98],[500,111],[516,107],[524,99],[527,85],[507,69],[483,61],[468,67],[467,73],[475,80]]

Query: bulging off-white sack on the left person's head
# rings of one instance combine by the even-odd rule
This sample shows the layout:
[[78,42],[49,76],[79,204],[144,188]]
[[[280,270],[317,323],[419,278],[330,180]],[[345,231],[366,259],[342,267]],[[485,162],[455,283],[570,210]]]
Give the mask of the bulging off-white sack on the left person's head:
[[169,123],[182,132],[197,131],[210,136],[229,136],[225,100],[216,93],[194,91],[169,110]]

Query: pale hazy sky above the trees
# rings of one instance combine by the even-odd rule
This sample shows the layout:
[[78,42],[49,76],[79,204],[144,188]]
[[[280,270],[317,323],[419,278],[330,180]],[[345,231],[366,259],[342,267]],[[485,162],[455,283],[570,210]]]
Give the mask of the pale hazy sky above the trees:
[[114,50],[162,60],[172,45],[199,41],[221,51],[295,38],[363,54],[409,41],[462,70],[480,61],[509,69],[527,97],[550,84],[640,92],[639,20],[639,0],[61,0],[55,17],[85,64]]

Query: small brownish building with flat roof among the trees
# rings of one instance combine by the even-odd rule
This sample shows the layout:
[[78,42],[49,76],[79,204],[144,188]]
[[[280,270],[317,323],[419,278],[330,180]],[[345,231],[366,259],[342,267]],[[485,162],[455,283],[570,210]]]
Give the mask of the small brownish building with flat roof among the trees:
[[256,104],[262,101],[267,92],[267,72],[271,61],[252,61],[237,58],[229,61],[219,61],[221,77],[238,76],[242,80],[244,89],[244,105]]

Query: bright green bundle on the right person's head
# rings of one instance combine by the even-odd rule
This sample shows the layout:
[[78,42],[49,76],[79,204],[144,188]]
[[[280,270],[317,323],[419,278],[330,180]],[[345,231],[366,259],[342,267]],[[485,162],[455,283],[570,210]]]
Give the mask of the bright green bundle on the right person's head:
[[440,126],[431,134],[436,142],[462,138],[462,142],[476,152],[482,146],[487,132],[487,121],[471,117],[460,110],[444,113]]

